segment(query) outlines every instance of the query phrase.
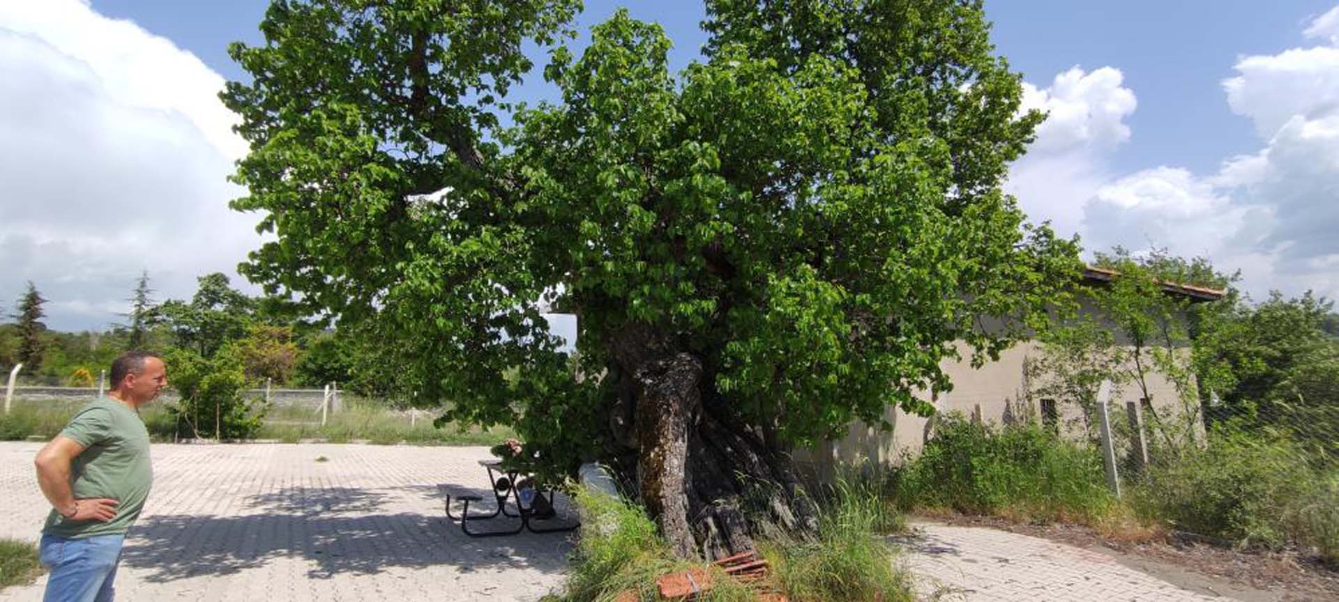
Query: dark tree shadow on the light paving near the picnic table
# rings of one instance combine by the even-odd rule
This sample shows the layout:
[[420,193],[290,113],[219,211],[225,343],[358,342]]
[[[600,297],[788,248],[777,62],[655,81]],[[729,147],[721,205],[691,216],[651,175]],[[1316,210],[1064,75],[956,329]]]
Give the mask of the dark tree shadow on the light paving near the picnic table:
[[[248,515],[147,516],[131,531],[122,562],[146,570],[149,582],[170,582],[198,575],[228,575],[264,566],[276,557],[297,557],[315,563],[309,578],[337,574],[375,574],[388,567],[457,566],[532,569],[562,573],[572,550],[572,534],[474,539],[461,532],[442,511],[441,491],[482,496],[487,490],[462,486],[403,488],[295,488],[246,499]],[[388,511],[390,502],[435,498],[435,511]],[[416,504],[422,506],[422,504]],[[471,512],[474,507],[471,506]],[[560,504],[561,514],[570,510]],[[498,528],[514,526],[498,519]]]

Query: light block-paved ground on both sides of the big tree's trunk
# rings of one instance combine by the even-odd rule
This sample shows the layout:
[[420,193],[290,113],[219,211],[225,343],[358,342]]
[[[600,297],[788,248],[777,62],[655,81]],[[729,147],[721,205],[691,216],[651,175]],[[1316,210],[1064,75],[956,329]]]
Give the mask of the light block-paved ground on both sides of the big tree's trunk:
[[[39,447],[0,443],[0,536],[37,538],[48,508],[32,474]],[[470,539],[445,520],[443,487],[487,487],[482,447],[154,445],[153,455],[121,599],[534,601],[560,585],[572,548],[561,534]],[[928,599],[1223,599],[1046,539],[915,527],[896,539]],[[0,599],[39,601],[44,583]]]

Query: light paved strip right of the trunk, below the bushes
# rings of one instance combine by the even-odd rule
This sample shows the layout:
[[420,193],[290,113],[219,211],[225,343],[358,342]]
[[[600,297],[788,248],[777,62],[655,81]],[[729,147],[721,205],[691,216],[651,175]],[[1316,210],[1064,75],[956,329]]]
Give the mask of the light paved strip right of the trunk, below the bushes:
[[[1224,601],[1122,565],[1115,557],[984,527],[912,523],[894,538],[917,590],[944,601]],[[937,598],[936,598],[937,595]]]

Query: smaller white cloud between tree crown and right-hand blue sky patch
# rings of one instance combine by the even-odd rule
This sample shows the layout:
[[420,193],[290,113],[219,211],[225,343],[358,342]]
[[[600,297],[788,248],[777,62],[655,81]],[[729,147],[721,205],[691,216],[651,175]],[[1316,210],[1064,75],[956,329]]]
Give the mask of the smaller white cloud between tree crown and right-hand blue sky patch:
[[1083,203],[1111,179],[1106,157],[1130,139],[1138,102],[1119,70],[1071,67],[1046,88],[1023,84],[1023,110],[1047,114],[1027,155],[1010,171],[1006,190],[1036,219],[1063,235],[1082,222]]

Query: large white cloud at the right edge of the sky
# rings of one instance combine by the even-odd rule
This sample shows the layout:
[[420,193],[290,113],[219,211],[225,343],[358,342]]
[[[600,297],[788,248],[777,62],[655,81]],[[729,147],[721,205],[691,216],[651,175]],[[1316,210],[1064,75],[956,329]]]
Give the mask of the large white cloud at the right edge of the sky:
[[[1304,35],[1334,43],[1339,8]],[[1089,249],[1168,246],[1240,268],[1248,293],[1339,297],[1339,48],[1244,56],[1223,82],[1261,139],[1217,173],[1157,167],[1114,179],[1083,206]]]

